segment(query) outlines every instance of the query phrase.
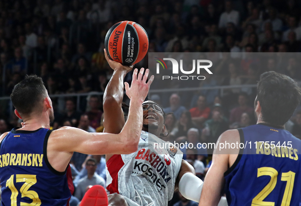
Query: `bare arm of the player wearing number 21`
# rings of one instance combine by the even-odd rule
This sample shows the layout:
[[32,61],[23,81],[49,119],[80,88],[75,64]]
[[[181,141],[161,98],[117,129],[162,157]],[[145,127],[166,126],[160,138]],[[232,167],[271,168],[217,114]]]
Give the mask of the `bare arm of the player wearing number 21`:
[[[224,132],[218,142],[230,144],[240,142],[238,130],[228,130]],[[201,193],[199,206],[217,206],[221,199],[221,191],[224,187],[224,173],[232,166],[239,153],[239,149],[214,150],[212,164],[205,176],[204,186]],[[231,155],[230,155],[231,154]]]

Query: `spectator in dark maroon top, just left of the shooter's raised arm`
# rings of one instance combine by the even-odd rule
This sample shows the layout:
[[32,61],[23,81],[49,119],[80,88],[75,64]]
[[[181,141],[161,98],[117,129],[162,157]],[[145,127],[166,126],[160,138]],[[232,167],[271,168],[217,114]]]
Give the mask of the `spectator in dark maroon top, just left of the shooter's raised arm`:
[[93,95],[89,99],[90,110],[85,114],[88,115],[90,120],[90,126],[96,129],[100,126],[102,111],[99,109],[100,107],[100,99],[98,96]]

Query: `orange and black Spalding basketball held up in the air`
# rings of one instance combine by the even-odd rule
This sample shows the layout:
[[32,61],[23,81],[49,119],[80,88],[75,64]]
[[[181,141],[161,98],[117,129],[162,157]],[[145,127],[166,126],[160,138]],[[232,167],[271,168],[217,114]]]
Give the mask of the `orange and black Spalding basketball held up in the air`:
[[114,24],[105,35],[107,55],[123,65],[140,62],[148,50],[148,36],[144,28],[133,21]]

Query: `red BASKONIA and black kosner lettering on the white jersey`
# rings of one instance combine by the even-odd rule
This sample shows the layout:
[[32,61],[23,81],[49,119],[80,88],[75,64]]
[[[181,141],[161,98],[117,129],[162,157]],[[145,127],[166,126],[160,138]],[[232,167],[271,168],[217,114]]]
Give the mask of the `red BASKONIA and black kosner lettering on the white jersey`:
[[156,153],[151,153],[151,150],[141,149],[138,151],[135,159],[136,161],[133,170],[139,171],[139,173],[143,172],[143,174],[146,175],[145,178],[148,178],[147,180],[149,182],[152,180],[152,183],[156,185],[160,191],[163,188],[166,188],[166,186],[162,184],[160,177],[155,174],[154,170],[161,176],[166,184],[172,179],[167,171],[167,166],[171,164],[168,155],[164,155],[163,161]]

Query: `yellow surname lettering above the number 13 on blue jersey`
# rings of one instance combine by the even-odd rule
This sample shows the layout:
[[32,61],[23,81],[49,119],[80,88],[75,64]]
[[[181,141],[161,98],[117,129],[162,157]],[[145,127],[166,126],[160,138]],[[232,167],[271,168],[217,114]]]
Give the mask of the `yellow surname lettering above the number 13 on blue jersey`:
[[[38,163],[39,162],[39,163]],[[0,167],[18,166],[43,166],[43,154],[14,154],[0,155]]]

